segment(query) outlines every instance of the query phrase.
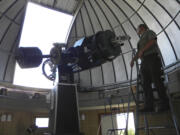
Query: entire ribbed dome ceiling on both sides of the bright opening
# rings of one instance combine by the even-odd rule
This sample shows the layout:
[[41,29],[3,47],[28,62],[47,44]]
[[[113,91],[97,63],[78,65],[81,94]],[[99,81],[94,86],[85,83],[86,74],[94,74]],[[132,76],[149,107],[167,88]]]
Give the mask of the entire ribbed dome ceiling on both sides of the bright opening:
[[[75,74],[82,87],[98,87],[130,80],[131,50],[139,39],[136,27],[145,23],[158,35],[164,65],[180,59],[179,0],[31,0],[74,16],[67,38],[68,47],[83,36],[112,30],[117,36],[130,35],[123,54],[112,62]],[[14,52],[18,47],[27,0],[0,1],[0,81],[12,82]],[[136,78],[133,68],[132,78]]]

